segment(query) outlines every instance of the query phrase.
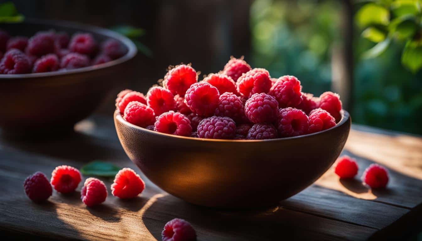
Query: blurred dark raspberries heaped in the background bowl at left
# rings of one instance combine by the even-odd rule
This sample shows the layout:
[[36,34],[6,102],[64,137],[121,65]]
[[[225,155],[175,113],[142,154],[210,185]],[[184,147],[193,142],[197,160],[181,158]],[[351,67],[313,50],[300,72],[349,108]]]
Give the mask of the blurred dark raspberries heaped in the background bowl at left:
[[31,38],[11,37],[0,30],[0,74],[42,73],[99,65],[126,54],[114,39],[101,45],[89,33],[37,32]]

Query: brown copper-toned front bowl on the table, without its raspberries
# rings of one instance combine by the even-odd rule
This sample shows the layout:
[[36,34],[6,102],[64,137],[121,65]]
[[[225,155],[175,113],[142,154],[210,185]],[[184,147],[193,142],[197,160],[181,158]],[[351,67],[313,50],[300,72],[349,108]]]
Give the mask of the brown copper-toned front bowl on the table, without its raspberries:
[[333,165],[346,143],[350,116],[319,133],[272,140],[180,137],[126,122],[114,124],[129,158],[157,186],[189,203],[248,208],[302,191]]

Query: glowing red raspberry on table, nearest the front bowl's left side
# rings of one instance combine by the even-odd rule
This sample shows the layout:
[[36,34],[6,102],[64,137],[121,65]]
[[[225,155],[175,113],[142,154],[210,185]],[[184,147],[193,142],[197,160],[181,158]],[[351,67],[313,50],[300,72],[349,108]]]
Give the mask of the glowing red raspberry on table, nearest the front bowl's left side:
[[123,168],[111,184],[111,194],[119,198],[135,198],[145,189],[145,182],[130,168]]

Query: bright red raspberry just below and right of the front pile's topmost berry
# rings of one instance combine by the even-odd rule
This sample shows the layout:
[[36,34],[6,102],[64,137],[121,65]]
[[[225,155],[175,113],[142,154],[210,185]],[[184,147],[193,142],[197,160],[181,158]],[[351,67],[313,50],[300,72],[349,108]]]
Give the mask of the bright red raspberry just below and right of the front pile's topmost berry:
[[245,97],[255,93],[268,93],[271,88],[270,74],[265,69],[254,68],[239,77],[237,91]]

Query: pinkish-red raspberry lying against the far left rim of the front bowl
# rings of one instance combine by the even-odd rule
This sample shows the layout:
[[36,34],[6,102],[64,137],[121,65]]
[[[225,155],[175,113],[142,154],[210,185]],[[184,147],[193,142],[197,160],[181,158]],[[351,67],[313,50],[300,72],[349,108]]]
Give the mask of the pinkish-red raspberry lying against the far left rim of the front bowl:
[[155,122],[154,110],[139,101],[131,101],[127,104],[123,118],[139,127],[147,127]]

